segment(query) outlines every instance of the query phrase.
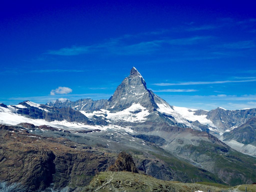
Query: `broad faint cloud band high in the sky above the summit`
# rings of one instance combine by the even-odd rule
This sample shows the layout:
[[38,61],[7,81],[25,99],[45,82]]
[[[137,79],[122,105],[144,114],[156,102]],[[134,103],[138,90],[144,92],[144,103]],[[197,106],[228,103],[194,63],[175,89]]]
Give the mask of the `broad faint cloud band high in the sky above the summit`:
[[61,48],[58,50],[48,50],[45,54],[50,55],[62,55],[72,56],[89,54],[95,52],[105,52],[117,55],[137,55],[137,54],[148,54],[153,51],[160,50],[164,46],[184,46],[194,45],[200,41],[212,39],[212,36],[194,36],[189,38],[162,38],[151,41],[142,41],[134,44],[127,44],[122,41],[123,38],[109,39],[101,44],[94,44],[89,46],[72,46],[67,48]]

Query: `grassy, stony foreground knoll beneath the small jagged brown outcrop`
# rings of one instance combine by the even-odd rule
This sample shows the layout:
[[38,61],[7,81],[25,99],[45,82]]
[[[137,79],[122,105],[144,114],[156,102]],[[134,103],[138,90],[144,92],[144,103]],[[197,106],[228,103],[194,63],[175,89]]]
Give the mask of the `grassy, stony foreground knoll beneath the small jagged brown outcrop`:
[[81,191],[208,191],[220,192],[223,188],[193,183],[179,183],[158,180],[146,175],[131,172],[101,172],[97,174],[90,185]]

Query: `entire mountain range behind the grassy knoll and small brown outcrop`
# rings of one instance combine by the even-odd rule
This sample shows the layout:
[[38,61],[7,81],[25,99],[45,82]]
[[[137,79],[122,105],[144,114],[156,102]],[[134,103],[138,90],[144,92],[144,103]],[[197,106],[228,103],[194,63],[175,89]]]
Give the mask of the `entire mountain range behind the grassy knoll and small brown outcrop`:
[[[255,116],[256,109],[172,106],[147,89],[133,67],[108,100],[1,103],[0,182],[17,191],[76,190],[124,150],[140,172],[158,179],[253,183]],[[37,177],[40,185],[31,179]]]

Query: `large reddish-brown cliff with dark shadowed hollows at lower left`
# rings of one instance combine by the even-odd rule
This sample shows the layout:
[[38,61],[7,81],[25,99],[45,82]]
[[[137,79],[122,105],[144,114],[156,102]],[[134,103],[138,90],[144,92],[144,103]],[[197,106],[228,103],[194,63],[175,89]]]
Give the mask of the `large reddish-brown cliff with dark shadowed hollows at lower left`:
[[85,186],[92,176],[106,170],[113,157],[84,146],[0,125],[0,183],[14,185],[12,191],[22,192]]

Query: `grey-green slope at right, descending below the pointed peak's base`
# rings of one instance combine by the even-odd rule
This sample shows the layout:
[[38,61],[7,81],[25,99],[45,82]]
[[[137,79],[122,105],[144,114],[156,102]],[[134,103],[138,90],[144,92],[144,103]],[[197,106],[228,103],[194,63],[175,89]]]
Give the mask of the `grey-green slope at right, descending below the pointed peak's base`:
[[165,151],[216,174],[230,185],[253,182],[250,175],[255,175],[252,170],[256,159],[233,150],[209,133],[168,127],[145,134],[163,138],[166,142],[159,146]]

